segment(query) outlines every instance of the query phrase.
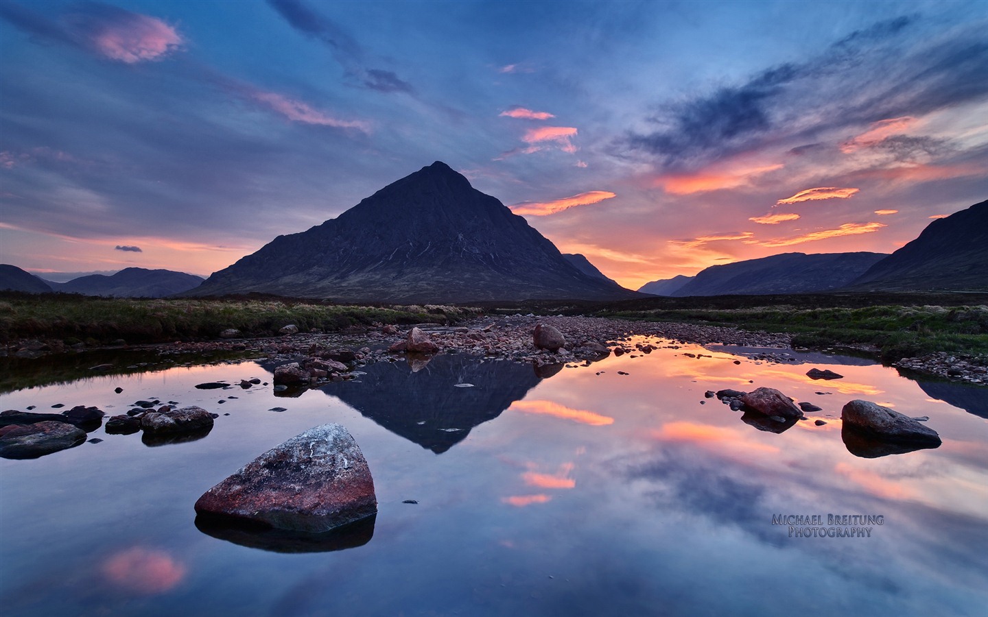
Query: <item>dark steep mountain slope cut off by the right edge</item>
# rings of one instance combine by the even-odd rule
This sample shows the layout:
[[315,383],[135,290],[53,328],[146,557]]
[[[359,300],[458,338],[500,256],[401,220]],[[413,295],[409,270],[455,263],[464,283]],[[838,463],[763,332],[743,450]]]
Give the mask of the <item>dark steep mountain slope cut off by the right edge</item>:
[[988,290],[988,200],[939,218],[851,283],[859,290]]

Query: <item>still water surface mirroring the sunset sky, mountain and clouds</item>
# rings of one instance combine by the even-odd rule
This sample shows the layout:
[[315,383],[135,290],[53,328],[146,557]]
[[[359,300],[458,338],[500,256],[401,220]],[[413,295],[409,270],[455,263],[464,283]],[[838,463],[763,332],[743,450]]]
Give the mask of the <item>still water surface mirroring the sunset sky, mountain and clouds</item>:
[[[109,416],[159,399],[220,417],[195,441],[149,446],[101,428],[89,435],[100,443],[0,460],[0,613],[983,617],[988,390],[854,358],[762,364],[739,351],[661,348],[554,375],[441,356],[295,398],[194,387],[269,381],[254,362],[4,394],[2,409]],[[845,378],[813,381],[813,366]],[[782,426],[703,397],[759,386],[823,411]],[[840,410],[858,398],[929,416],[944,444],[853,454]],[[209,487],[330,422],[371,466],[370,524],[315,546],[197,527]],[[822,525],[774,524],[790,515]]]

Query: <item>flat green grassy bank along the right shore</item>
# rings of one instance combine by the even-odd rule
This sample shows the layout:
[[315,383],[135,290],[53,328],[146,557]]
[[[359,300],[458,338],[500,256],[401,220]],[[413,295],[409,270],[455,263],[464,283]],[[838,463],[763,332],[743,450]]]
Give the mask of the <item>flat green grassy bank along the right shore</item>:
[[796,347],[874,347],[887,361],[934,351],[988,354],[988,306],[983,305],[864,308],[778,305],[646,310],[617,307],[597,314],[784,332],[792,335]]

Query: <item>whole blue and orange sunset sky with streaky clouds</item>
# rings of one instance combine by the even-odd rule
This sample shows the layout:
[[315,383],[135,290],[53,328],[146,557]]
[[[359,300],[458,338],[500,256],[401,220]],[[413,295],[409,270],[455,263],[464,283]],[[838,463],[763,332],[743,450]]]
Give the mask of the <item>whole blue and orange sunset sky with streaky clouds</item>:
[[207,275],[437,160],[630,288],[891,253],[988,198],[986,33],[983,1],[0,0],[0,263]]

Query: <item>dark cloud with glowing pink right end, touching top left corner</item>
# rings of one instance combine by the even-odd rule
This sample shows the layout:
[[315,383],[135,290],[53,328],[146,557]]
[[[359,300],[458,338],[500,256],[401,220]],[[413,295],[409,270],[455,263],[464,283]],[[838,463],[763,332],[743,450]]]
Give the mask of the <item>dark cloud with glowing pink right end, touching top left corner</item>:
[[97,2],[79,5],[58,21],[4,2],[0,17],[39,39],[68,43],[126,64],[162,60],[185,43],[162,20]]

